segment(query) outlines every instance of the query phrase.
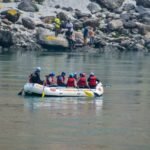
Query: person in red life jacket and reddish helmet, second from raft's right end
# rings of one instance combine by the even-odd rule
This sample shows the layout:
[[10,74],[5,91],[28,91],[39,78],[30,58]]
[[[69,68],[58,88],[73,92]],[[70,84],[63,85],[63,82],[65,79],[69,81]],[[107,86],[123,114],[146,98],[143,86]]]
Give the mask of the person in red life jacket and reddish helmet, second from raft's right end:
[[77,83],[79,88],[87,88],[87,80],[86,80],[86,74],[85,73],[80,73],[80,78]]

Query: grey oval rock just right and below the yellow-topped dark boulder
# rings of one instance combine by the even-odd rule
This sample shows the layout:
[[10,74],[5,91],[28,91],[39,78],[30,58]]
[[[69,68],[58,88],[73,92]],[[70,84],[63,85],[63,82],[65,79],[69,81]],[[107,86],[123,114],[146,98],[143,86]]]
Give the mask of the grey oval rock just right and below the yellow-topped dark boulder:
[[28,29],[35,29],[35,23],[30,18],[22,18],[22,24]]

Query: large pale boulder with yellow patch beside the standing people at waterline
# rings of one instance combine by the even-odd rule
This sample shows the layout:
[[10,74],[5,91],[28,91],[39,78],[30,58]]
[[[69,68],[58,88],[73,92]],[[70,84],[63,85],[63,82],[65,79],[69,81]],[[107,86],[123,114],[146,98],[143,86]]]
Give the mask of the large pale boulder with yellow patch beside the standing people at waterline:
[[61,47],[68,48],[68,41],[64,37],[55,37],[53,32],[48,32],[47,30],[39,30],[37,32],[37,42],[46,48]]

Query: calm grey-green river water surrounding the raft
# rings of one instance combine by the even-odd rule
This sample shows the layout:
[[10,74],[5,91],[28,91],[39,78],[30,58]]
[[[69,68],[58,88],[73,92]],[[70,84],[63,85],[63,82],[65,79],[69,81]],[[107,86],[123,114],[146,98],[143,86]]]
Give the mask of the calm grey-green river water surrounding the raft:
[[[33,68],[91,71],[104,96],[18,96]],[[16,52],[0,54],[1,150],[150,150],[150,55]]]

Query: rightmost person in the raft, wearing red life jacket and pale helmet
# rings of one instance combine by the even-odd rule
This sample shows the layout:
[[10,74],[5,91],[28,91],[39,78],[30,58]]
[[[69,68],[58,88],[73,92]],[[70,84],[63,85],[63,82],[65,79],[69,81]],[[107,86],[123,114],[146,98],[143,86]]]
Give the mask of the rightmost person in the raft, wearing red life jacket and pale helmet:
[[93,72],[90,73],[87,81],[90,88],[95,88],[97,83],[99,83],[99,79],[97,79]]

